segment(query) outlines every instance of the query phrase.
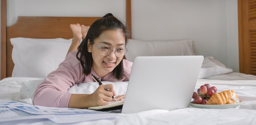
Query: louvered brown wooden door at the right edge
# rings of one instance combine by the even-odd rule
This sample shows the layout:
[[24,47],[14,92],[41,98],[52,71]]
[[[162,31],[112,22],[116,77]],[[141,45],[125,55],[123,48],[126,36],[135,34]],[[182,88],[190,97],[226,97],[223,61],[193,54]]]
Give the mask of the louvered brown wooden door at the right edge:
[[239,70],[256,75],[256,0],[238,0]]

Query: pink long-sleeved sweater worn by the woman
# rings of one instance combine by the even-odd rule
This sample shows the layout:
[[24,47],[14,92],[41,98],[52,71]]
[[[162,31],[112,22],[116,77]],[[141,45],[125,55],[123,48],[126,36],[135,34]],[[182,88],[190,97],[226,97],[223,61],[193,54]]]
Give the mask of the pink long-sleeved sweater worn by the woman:
[[132,62],[123,60],[124,75],[121,80],[117,80],[112,73],[101,79],[93,69],[89,75],[83,74],[83,68],[76,58],[76,52],[77,50],[70,52],[58,69],[49,73],[47,78],[38,85],[34,93],[34,105],[66,108],[71,96],[71,93],[67,93],[67,90],[74,84],[94,82],[91,74],[94,74],[100,81],[117,82],[129,80]]

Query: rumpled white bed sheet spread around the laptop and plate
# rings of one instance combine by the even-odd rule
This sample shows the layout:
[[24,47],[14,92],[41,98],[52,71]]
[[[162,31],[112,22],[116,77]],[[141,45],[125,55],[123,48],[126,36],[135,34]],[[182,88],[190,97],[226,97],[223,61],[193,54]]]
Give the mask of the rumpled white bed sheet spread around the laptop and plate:
[[[16,101],[15,97],[20,91],[22,82],[38,79],[40,78],[6,78],[1,80],[0,102]],[[229,109],[202,109],[190,106],[189,108],[173,111],[149,110],[135,114],[123,115],[112,119],[68,123],[68,125],[256,125],[256,80],[198,79],[195,91],[205,83],[208,83],[211,86],[216,86],[218,88],[218,92],[230,89],[236,91],[239,99],[243,101],[243,104],[236,108]],[[177,93],[177,95],[170,96],[178,95],[179,93]],[[71,116],[59,117],[62,117],[63,119],[71,119]],[[0,124],[58,125],[58,123],[54,123],[49,119],[8,121],[0,122]]]

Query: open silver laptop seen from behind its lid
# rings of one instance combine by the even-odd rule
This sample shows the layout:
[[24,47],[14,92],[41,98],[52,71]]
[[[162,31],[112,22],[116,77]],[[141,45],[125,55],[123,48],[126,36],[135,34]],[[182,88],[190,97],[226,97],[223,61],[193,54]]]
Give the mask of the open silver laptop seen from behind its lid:
[[189,107],[203,56],[138,56],[121,113]]

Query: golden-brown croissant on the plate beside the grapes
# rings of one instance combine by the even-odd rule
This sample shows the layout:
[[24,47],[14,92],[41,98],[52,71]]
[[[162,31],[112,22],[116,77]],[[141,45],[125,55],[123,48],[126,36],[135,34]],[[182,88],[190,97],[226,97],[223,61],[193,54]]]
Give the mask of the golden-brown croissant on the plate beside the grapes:
[[239,102],[236,93],[232,90],[222,91],[221,93],[214,93],[211,98],[207,101],[206,105],[223,105],[233,104]]

